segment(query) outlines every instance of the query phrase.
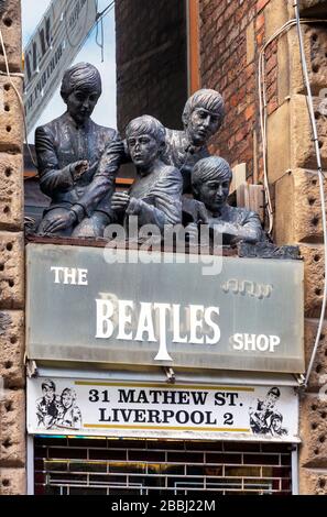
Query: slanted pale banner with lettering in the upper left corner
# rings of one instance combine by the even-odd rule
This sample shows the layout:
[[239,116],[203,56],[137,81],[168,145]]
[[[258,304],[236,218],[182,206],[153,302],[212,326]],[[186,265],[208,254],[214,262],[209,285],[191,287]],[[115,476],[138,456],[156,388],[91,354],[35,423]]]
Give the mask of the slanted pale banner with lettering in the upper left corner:
[[24,48],[28,132],[78,54],[97,15],[96,0],[53,0]]

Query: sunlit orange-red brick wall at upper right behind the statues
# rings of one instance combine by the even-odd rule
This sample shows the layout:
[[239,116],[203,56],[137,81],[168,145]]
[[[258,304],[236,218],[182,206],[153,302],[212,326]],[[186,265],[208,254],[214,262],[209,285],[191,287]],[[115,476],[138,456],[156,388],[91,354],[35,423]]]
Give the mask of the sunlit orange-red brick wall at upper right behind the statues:
[[[221,92],[226,120],[211,151],[231,165],[246,162],[249,179],[261,177],[258,59],[266,26],[269,0],[200,0],[201,86]],[[277,105],[276,44],[266,53],[269,112]]]

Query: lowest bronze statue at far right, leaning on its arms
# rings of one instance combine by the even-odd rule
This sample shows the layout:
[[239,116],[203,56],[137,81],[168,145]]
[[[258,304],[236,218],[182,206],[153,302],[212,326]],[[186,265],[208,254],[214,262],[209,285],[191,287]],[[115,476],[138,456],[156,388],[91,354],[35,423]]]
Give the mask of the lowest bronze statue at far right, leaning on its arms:
[[[222,237],[222,243],[233,245],[239,241],[257,243],[265,240],[258,213],[227,202],[232,172],[219,156],[203,158],[192,172],[195,199],[185,198],[183,212],[189,229],[199,224]],[[196,228],[195,228],[196,227]]]

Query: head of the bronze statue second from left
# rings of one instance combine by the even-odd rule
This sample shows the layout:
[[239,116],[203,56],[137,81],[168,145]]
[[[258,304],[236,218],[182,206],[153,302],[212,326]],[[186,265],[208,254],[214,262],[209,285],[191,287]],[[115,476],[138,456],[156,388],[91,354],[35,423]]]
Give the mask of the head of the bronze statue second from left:
[[133,119],[126,129],[131,158],[137,167],[148,167],[165,146],[165,129],[154,117]]

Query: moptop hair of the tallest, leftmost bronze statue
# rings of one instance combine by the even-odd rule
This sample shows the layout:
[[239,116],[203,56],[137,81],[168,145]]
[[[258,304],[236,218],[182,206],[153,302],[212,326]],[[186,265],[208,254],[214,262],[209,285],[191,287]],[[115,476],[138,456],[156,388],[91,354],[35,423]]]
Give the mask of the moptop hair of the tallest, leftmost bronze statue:
[[80,88],[83,90],[96,91],[99,96],[102,92],[102,82],[99,70],[89,63],[77,63],[65,72],[61,96],[65,100],[72,91]]

